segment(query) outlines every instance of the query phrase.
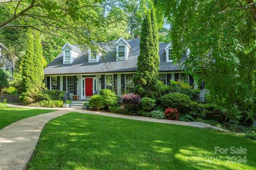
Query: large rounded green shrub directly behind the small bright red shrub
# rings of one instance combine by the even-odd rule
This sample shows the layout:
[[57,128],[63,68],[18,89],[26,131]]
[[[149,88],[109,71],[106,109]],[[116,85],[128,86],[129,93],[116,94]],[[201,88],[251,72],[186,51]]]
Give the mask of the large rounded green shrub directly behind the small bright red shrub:
[[191,100],[187,95],[180,93],[167,94],[162,97],[162,106],[164,108],[177,108],[179,113],[189,113]]

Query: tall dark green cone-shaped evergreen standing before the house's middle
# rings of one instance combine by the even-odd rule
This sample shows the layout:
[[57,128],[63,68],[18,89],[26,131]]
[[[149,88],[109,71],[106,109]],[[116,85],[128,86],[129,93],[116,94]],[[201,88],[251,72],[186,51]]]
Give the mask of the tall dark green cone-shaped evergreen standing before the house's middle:
[[138,69],[134,75],[134,92],[142,97],[157,97],[158,69],[155,64],[155,47],[153,47],[153,30],[150,19],[150,11],[147,12],[141,27],[140,54],[138,56]]

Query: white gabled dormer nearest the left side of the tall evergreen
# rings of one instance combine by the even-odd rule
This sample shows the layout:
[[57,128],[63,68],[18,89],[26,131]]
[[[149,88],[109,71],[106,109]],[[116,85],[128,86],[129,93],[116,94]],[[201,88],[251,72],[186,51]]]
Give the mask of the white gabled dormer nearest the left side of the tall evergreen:
[[123,37],[120,37],[116,41],[116,61],[127,60],[130,49],[130,44]]

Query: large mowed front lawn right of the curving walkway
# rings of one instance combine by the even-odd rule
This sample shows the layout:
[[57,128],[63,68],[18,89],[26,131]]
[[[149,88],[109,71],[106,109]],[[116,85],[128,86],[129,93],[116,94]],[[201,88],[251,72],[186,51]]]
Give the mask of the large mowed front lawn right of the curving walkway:
[[[215,154],[214,147],[243,147],[247,154]],[[256,169],[255,152],[256,141],[235,135],[68,113],[45,125],[28,169]]]

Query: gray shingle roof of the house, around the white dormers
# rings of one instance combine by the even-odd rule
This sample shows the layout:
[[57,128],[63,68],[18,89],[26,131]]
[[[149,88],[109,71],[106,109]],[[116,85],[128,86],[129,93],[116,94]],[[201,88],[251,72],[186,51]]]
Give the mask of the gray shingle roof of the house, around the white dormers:
[[[61,53],[44,69],[44,73],[49,75],[136,71],[138,56],[140,54],[140,39],[128,39],[126,41],[132,47],[126,61],[116,61],[116,41],[111,41],[101,46],[106,50],[106,54],[104,57],[100,57],[97,63],[89,63],[87,52],[82,52],[72,64],[63,64]],[[178,65],[166,62],[164,48],[167,45],[159,44],[159,57],[161,61],[159,71],[180,71],[181,69]],[[74,47],[78,48],[77,46]]]

